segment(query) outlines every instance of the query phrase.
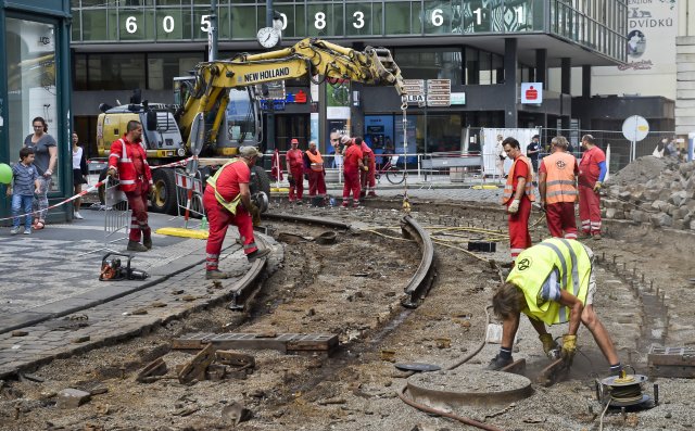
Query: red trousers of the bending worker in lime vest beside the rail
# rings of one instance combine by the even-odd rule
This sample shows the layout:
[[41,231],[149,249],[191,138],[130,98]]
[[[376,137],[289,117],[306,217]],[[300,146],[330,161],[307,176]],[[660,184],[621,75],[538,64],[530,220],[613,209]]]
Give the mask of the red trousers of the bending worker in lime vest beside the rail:
[[235,225],[239,229],[239,236],[243,243],[243,253],[250,254],[258,250],[253,237],[253,220],[251,214],[241,205],[237,205],[237,214],[231,214],[229,210],[222,206],[215,198],[215,192],[211,187],[205,189],[203,194],[203,206],[207,214],[207,244],[205,245],[205,269],[215,270],[219,265],[219,253],[222,244],[227,234],[229,225]]

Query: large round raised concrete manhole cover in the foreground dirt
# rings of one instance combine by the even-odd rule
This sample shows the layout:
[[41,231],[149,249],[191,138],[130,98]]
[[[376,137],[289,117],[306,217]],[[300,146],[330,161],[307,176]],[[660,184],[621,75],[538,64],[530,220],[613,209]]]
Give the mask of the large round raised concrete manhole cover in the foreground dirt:
[[432,407],[507,404],[531,395],[531,380],[479,366],[419,373],[408,379],[413,400]]

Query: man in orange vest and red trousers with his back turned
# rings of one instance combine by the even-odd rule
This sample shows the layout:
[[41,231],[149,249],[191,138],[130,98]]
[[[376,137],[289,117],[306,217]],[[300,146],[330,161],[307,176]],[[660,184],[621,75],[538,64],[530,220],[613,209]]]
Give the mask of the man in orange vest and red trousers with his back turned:
[[574,202],[577,202],[577,159],[567,152],[567,139],[556,136],[551,141],[551,155],[543,157],[539,168],[541,207],[551,236],[577,239]]

